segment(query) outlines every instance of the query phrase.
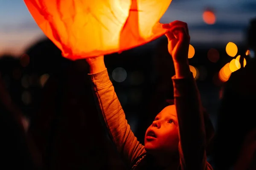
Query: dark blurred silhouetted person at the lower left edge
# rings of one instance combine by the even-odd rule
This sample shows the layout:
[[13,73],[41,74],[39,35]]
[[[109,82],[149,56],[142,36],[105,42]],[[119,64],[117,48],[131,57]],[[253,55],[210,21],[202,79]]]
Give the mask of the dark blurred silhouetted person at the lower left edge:
[[[2,76],[6,76],[6,74],[8,76],[8,71],[3,68],[6,60],[16,61],[11,57],[0,59]],[[12,68],[14,65],[15,62],[9,62],[5,67]],[[10,70],[12,71],[12,69]],[[12,74],[9,76],[9,81],[11,81]],[[12,85],[9,88],[12,88]],[[14,89],[9,90],[15,91]],[[36,169],[36,163],[32,159],[33,155],[30,152],[32,150],[29,146],[32,143],[26,135],[27,126],[25,116],[7,91],[6,82],[0,77],[0,169]]]

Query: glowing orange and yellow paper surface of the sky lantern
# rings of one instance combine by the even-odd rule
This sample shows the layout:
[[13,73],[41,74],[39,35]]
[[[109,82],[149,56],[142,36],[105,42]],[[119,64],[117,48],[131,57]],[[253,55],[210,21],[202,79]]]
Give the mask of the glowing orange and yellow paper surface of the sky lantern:
[[121,52],[166,33],[159,23],[172,0],[24,0],[64,57]]

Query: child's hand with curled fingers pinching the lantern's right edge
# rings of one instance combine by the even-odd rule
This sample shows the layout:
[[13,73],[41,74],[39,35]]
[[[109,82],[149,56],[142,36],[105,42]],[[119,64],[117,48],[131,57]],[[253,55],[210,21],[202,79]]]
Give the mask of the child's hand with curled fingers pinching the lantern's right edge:
[[168,51],[172,55],[174,62],[188,62],[189,53],[189,30],[186,23],[174,21],[164,24],[163,28],[169,29],[166,33],[168,38]]

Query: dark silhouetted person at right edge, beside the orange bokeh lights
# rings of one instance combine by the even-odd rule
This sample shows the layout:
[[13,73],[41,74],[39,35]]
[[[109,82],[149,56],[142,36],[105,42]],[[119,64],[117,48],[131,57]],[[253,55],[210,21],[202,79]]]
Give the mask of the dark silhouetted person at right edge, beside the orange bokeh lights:
[[[255,20],[248,42],[255,48]],[[242,65],[242,64],[241,64]],[[216,170],[256,169],[256,67],[255,60],[231,74],[218,113],[214,162]]]

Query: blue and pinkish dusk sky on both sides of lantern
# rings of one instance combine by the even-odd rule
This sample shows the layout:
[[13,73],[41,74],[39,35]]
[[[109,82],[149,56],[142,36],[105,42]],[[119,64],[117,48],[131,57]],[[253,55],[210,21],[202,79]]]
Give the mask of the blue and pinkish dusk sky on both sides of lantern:
[[[215,25],[202,20],[205,8],[215,10]],[[244,41],[244,30],[256,17],[256,0],[173,0],[160,22],[181,20],[189,25],[191,44]],[[0,54],[20,55],[44,37],[23,0],[0,0]]]

